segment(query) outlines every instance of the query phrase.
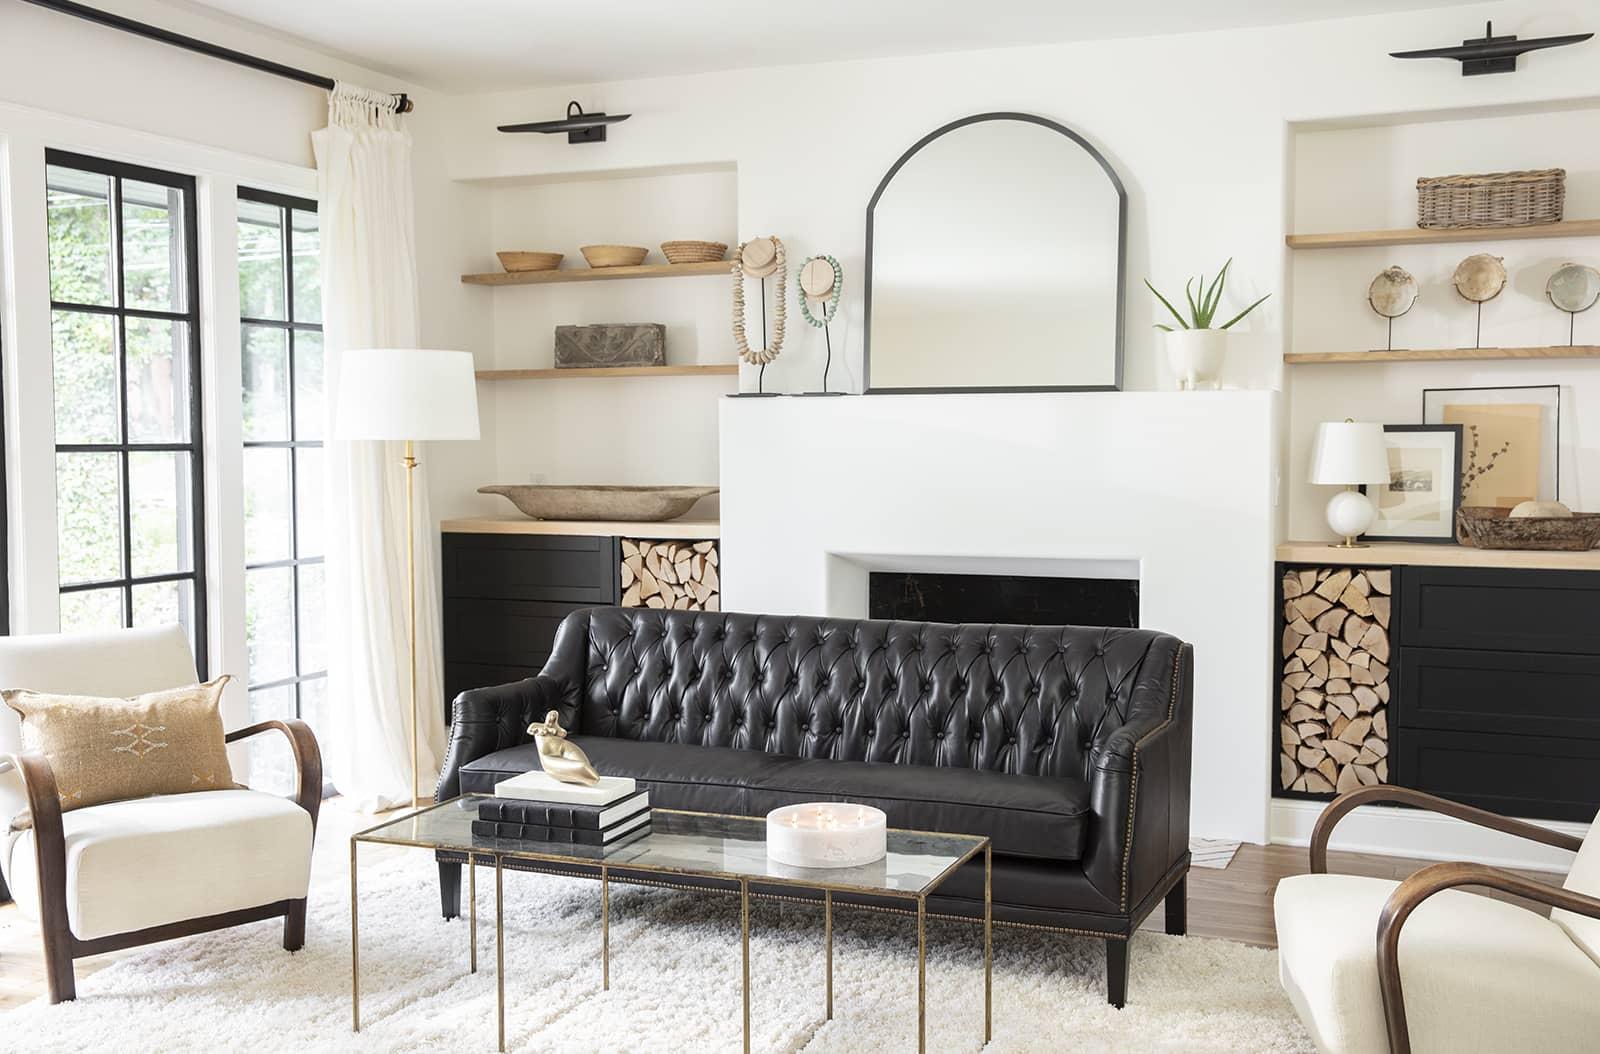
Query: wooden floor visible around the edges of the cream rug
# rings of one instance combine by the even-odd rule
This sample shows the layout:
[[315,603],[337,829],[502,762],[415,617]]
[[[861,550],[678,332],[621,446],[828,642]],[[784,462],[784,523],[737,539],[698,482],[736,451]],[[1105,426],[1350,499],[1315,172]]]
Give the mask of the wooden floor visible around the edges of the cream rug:
[[[330,811],[323,816],[328,817]],[[330,817],[331,819],[331,817]],[[370,822],[370,820],[368,820]],[[334,824],[325,820],[318,841],[328,836]],[[347,836],[347,833],[346,833]],[[1405,878],[1432,860],[1416,860],[1392,856],[1360,852],[1330,852],[1330,870],[1346,875],[1371,875],[1374,878]],[[1189,932],[1197,937],[1221,937],[1275,947],[1272,929],[1272,891],[1282,878],[1307,870],[1306,849],[1290,846],[1240,846],[1232,864],[1222,870],[1194,868],[1189,872]],[[1531,878],[1560,884],[1560,875],[1525,872]],[[1483,891],[1478,891],[1483,892]],[[1501,899],[1515,900],[1502,894]],[[1536,907],[1536,905],[1530,905]],[[1539,908],[1547,913],[1547,908]],[[1155,912],[1146,926],[1160,929],[1162,913]],[[176,945],[181,947],[181,945]],[[136,952],[138,948],[134,948]],[[114,952],[78,960],[78,977],[101,969],[131,952]],[[16,905],[0,905],[0,1011],[27,1003],[45,993],[45,966],[38,945],[38,928],[22,918]]]

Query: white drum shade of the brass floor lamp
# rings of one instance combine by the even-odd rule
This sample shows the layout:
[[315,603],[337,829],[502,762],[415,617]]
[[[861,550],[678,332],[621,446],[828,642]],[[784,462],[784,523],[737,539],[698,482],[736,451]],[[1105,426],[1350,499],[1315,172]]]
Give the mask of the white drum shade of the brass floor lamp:
[[478,385],[470,352],[410,347],[339,355],[338,440],[475,440]]

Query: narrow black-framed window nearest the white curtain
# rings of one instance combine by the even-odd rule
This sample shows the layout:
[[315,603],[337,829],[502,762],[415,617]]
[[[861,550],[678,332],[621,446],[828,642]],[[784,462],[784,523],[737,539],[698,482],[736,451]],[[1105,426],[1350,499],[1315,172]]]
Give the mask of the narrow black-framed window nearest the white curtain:
[[250,712],[312,726],[328,685],[320,248],[315,202],[240,187]]

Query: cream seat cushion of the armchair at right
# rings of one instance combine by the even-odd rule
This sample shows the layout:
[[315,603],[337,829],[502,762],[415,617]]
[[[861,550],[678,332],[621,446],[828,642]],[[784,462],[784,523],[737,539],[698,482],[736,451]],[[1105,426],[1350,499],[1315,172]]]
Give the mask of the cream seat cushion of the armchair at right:
[[[1274,916],[1283,990],[1318,1051],[1389,1049],[1378,988],[1378,916],[1398,883],[1296,875]],[[1400,931],[1411,1049],[1594,1049],[1600,968],[1557,923],[1462,889],[1422,902]]]

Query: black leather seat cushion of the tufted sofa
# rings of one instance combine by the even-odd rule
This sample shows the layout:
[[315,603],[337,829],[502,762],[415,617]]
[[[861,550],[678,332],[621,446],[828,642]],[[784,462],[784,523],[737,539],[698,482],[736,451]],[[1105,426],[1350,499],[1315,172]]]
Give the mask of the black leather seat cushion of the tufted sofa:
[[[664,809],[765,816],[797,801],[848,800],[883,809],[891,827],[987,835],[995,852],[1048,860],[1083,854],[1090,803],[1074,779],[1008,776],[930,765],[813,761],[738,747],[694,747],[573,736],[595,771],[632,776]],[[462,793],[539,768],[534,744],[498,750],[461,768]]]

